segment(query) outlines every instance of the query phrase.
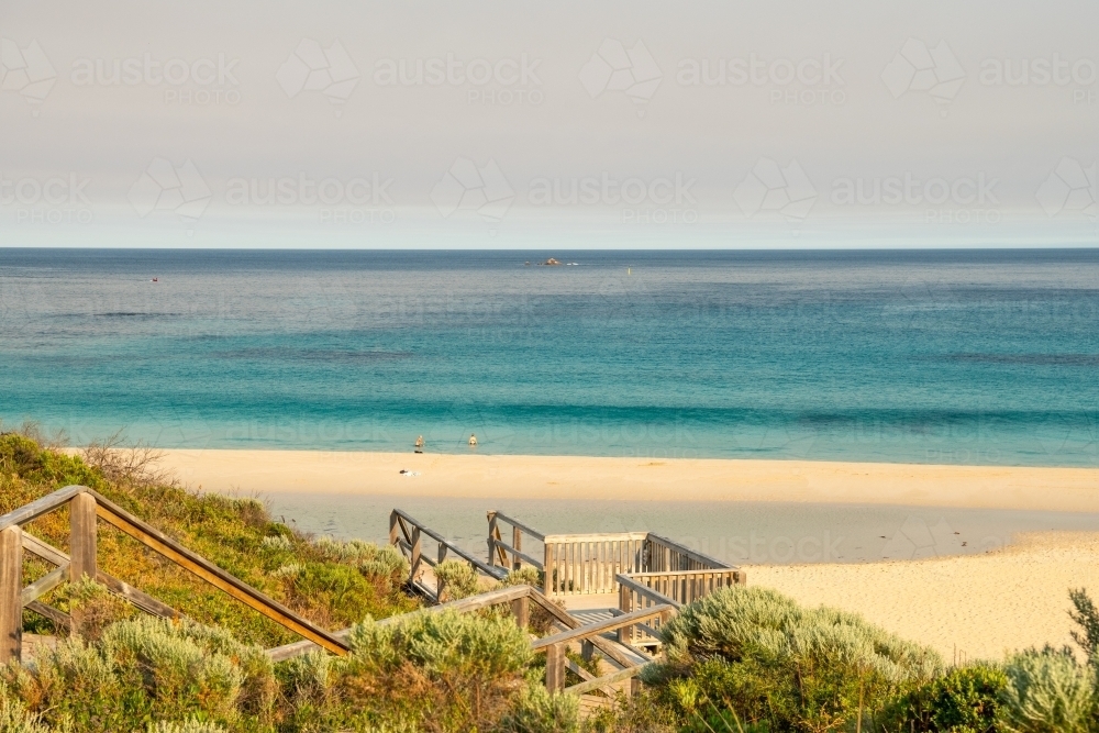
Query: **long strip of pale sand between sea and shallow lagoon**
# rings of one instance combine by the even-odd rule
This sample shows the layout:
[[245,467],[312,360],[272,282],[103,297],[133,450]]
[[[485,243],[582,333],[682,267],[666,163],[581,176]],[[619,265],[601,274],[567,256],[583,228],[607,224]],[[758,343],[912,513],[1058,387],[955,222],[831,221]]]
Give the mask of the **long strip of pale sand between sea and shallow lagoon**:
[[1096,468],[321,451],[168,451],[163,465],[220,492],[1099,511]]

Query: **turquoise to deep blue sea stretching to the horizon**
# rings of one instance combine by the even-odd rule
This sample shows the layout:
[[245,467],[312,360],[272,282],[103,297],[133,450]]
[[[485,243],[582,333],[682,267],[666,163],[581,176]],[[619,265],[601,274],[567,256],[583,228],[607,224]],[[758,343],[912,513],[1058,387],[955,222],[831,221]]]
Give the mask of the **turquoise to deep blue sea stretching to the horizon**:
[[1095,466],[1099,251],[0,249],[0,375],[75,443]]

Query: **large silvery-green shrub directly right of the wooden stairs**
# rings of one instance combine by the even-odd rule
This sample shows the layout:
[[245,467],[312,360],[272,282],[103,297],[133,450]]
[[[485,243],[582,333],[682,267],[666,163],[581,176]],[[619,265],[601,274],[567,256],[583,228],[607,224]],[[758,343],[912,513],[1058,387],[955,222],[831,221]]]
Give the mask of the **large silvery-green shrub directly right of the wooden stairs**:
[[856,614],[806,609],[765,588],[721,589],[660,636],[667,660],[644,679],[685,722],[717,709],[776,731],[844,730],[942,668],[935,652]]

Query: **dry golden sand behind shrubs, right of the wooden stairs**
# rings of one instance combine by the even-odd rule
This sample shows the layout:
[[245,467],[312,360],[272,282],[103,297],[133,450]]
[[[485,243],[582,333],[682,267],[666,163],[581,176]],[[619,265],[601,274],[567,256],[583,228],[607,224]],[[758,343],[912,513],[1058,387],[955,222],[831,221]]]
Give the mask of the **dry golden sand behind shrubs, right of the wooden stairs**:
[[1072,644],[1069,588],[1099,600],[1099,533],[1040,533],[986,555],[858,565],[748,567],[748,582],[810,606],[862,613],[901,636],[968,658]]

